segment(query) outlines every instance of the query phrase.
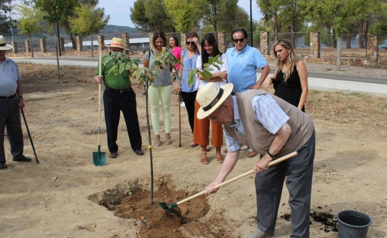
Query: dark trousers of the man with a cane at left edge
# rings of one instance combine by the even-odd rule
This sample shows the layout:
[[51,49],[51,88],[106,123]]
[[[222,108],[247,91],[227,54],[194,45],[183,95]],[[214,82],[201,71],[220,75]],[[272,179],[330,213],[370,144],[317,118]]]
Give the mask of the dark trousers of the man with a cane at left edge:
[[14,159],[23,155],[23,132],[20,112],[17,107],[17,97],[0,99],[0,162],[5,163],[4,130],[7,128],[11,154]]

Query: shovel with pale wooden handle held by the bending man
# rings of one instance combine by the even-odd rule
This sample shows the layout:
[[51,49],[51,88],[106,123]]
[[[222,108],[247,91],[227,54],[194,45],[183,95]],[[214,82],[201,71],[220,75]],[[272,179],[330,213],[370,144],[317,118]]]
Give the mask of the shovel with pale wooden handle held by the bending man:
[[[281,157],[281,158],[278,158],[278,159],[276,159],[276,160],[273,160],[272,162],[269,163],[268,166],[270,167],[270,166],[272,166],[272,165],[275,165],[275,164],[278,164],[278,163],[280,163],[280,162],[283,162],[284,160],[287,160],[287,159],[289,159],[289,158],[291,158],[291,157],[293,157],[293,156],[296,156],[297,154],[298,154],[297,151],[292,152],[292,153],[290,153],[290,154],[288,154],[288,155],[285,155],[285,156],[283,156],[283,157]],[[248,175],[250,175],[250,174],[253,174],[253,173],[254,173],[254,170],[250,170],[250,171],[248,171],[248,172],[245,172],[244,174],[238,175],[238,176],[236,176],[236,177],[233,177],[232,179],[229,179],[229,180],[227,180],[227,181],[224,181],[224,182],[222,182],[222,183],[220,183],[220,184],[214,186],[214,188],[215,188],[215,189],[218,189],[219,187],[222,187],[222,186],[224,186],[224,185],[226,185],[226,184],[229,184],[230,182],[234,182],[235,180],[241,179],[241,178],[246,177],[246,176],[248,176]],[[203,190],[203,191],[201,191],[201,192],[198,192],[197,194],[194,194],[194,195],[192,195],[192,196],[190,196],[190,197],[187,197],[187,198],[185,198],[185,199],[183,199],[183,200],[181,200],[181,201],[178,201],[177,203],[171,204],[171,205],[169,205],[169,206],[168,206],[165,202],[157,202],[157,203],[158,203],[158,204],[161,206],[161,208],[163,208],[165,211],[170,211],[170,212],[175,213],[176,211],[173,209],[174,207],[179,206],[179,205],[182,204],[182,203],[188,202],[188,201],[190,201],[191,199],[194,199],[195,197],[199,197],[199,196],[203,195],[204,193],[205,193],[205,190]]]

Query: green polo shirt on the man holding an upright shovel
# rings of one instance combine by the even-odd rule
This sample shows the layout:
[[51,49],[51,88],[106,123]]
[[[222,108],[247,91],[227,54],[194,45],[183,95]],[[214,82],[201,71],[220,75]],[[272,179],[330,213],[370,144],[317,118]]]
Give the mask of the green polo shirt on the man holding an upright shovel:
[[[109,53],[110,54],[110,53]],[[108,56],[102,56],[102,62],[104,59]],[[113,89],[127,89],[130,87],[130,79],[129,79],[129,71],[124,70],[122,74],[114,75],[113,72],[110,74],[109,71],[112,68],[111,61],[108,62],[106,65],[103,65],[102,63],[102,75],[103,75],[103,82],[106,87],[113,88]],[[99,64],[97,67],[96,75],[99,75]]]

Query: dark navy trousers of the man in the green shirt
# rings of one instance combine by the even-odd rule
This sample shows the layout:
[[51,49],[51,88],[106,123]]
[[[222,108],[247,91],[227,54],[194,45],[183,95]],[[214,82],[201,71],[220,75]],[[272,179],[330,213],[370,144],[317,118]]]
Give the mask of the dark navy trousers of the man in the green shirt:
[[120,122],[120,111],[125,118],[130,145],[133,150],[141,149],[141,133],[137,116],[136,94],[133,89],[125,93],[113,93],[105,89],[103,92],[103,106],[105,111],[106,132],[110,152],[117,152],[117,132]]

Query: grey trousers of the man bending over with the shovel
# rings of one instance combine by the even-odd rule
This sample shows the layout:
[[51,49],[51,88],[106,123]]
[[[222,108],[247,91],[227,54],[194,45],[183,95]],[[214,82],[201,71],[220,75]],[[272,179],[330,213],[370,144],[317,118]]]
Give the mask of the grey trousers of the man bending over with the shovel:
[[309,237],[310,194],[312,191],[315,132],[298,150],[298,155],[255,175],[257,193],[257,226],[273,233],[285,176],[291,208],[291,237]]

